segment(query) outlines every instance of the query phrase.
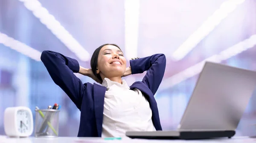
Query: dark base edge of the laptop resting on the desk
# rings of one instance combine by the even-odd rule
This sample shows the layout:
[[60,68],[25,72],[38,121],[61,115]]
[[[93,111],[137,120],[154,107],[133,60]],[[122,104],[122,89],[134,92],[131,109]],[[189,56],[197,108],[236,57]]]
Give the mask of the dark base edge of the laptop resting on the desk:
[[196,140],[209,139],[218,137],[231,138],[236,134],[236,131],[202,131],[202,132],[180,132],[179,136],[136,136],[127,135],[130,138],[154,139],[154,140]]

